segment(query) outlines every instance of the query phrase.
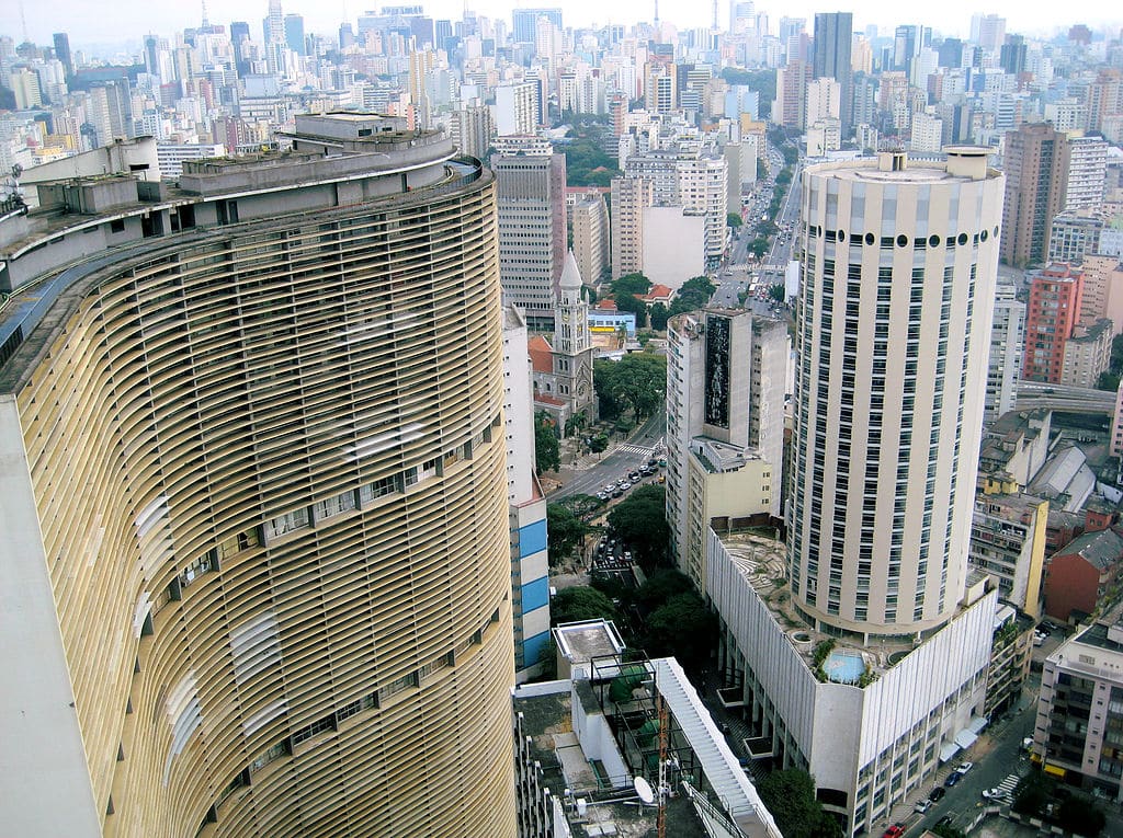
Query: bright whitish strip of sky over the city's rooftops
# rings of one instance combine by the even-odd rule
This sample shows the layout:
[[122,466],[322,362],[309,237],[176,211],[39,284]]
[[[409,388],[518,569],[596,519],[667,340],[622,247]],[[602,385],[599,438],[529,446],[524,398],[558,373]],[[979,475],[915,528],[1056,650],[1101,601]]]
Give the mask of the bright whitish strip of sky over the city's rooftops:
[[[21,20],[11,16],[8,34],[12,38],[24,39],[26,28],[27,37],[33,43],[48,44],[51,35],[56,31],[66,31],[71,36],[74,48],[89,47],[125,47],[126,45],[137,45],[147,34],[170,35],[181,31],[184,28],[198,26],[202,20],[204,3],[199,4],[172,4],[167,2],[141,3],[137,0],[124,0],[116,7],[119,12],[112,17],[107,17],[97,6],[80,2],[79,0],[64,0],[60,3],[30,6],[20,0]],[[372,3],[374,9],[382,8],[382,3]],[[437,2],[423,2],[421,6],[427,16],[433,19],[459,20],[463,18],[465,7],[453,0],[438,0]],[[931,26],[933,31],[949,37],[967,37],[970,30],[971,16],[975,13],[998,15],[1007,21],[1006,31],[1021,33],[1034,37],[1049,37],[1056,31],[1075,24],[1085,24],[1093,31],[1117,33],[1123,28],[1123,16],[1112,17],[1104,13],[1074,13],[1069,20],[1057,20],[1053,12],[1046,13],[1035,11],[1032,7],[1001,0],[992,3],[992,8],[979,9],[977,6],[966,2],[966,0],[951,0],[944,3],[944,13],[940,15],[939,22],[929,19],[915,19],[909,12],[903,11],[897,4],[888,0],[874,0],[862,3],[860,8],[846,8],[842,3],[820,3],[814,0],[797,0],[794,3],[756,3],[757,11],[769,16],[769,26],[776,29],[780,17],[805,18],[809,22],[807,31],[812,31],[814,15],[823,11],[850,11],[855,16],[855,30],[864,31],[867,26],[877,25],[882,34],[892,35],[892,28],[900,24],[919,22]],[[471,11],[493,19],[506,20],[510,25],[511,11],[514,8],[554,8],[550,3],[523,3],[511,6],[500,0],[485,0],[483,3],[474,4]],[[650,22],[654,18],[656,2],[629,2],[622,8],[628,13],[605,17],[601,12],[603,8],[591,2],[591,0],[576,0],[567,2],[563,7],[563,21],[566,27],[593,27],[609,24],[623,24],[630,26],[636,22]],[[828,8],[834,7],[834,8]],[[261,39],[261,21],[267,13],[266,0],[234,0],[221,6],[212,3],[207,8],[207,18],[212,24],[229,26],[230,21],[244,20],[249,24],[252,37]],[[621,8],[621,7],[614,7]],[[697,27],[709,27],[713,6],[710,3],[697,4],[687,3],[684,0],[664,0],[658,3],[659,19],[665,24],[670,24],[678,29],[691,29]],[[308,2],[282,3],[285,15],[301,15],[304,17],[305,31],[325,36],[335,36],[339,25],[354,21],[366,11],[360,7],[348,9],[346,3],[341,3],[335,10],[316,6]],[[1083,12],[1084,10],[1081,10]],[[730,4],[722,1],[718,3],[718,25],[727,28],[729,25]],[[121,20],[137,21],[135,30],[124,28]]]

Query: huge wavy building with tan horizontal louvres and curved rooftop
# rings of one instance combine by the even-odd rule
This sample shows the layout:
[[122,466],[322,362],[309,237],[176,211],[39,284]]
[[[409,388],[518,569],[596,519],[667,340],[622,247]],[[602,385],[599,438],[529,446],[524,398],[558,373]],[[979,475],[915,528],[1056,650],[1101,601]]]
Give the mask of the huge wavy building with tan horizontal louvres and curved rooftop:
[[494,181],[292,141],[0,221],[13,835],[515,834]]

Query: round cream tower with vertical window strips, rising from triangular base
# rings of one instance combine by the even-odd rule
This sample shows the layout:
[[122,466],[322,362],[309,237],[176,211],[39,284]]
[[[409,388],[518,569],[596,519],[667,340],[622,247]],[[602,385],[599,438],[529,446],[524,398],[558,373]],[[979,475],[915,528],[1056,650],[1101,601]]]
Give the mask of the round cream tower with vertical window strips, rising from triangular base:
[[788,571],[864,636],[938,628],[964,591],[1003,177],[947,151],[804,173]]

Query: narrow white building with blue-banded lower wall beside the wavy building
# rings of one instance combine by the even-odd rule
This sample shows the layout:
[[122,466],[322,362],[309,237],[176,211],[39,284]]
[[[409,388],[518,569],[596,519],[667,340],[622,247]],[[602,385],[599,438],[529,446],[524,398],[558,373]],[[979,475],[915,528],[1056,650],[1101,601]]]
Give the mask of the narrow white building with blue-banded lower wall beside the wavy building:
[[503,306],[503,420],[506,426],[506,500],[511,519],[511,617],[515,680],[541,671],[550,629],[546,555],[546,495],[535,461],[535,411],[527,351],[527,320]]

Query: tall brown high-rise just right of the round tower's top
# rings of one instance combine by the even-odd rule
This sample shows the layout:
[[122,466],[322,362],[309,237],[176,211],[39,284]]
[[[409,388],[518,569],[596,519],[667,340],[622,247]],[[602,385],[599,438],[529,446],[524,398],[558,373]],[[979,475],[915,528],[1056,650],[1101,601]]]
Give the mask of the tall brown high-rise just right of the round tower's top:
[[1049,228],[1065,206],[1068,138],[1047,122],[1006,132],[1002,260],[1016,268],[1046,258]]

